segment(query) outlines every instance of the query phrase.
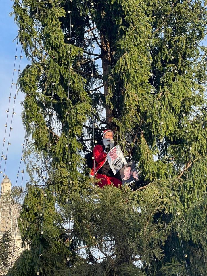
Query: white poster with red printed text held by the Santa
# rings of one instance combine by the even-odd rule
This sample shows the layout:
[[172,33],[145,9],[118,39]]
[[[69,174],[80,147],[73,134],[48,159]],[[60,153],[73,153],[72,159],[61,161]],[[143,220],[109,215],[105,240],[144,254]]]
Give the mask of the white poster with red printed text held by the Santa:
[[111,167],[114,175],[120,171],[121,168],[125,164],[127,164],[126,159],[120,149],[119,145],[113,147],[110,152],[107,154],[107,160],[109,162],[109,166]]

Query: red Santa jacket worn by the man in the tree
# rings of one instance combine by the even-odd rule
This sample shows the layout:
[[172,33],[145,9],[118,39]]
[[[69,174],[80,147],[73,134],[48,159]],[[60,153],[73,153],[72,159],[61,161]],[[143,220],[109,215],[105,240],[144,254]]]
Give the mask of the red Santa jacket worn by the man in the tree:
[[[101,145],[96,145],[93,149],[93,168],[91,170],[90,175],[94,176],[98,170],[104,165],[106,162],[106,156],[107,154],[104,152],[105,147]],[[94,171],[95,168],[95,171]]]

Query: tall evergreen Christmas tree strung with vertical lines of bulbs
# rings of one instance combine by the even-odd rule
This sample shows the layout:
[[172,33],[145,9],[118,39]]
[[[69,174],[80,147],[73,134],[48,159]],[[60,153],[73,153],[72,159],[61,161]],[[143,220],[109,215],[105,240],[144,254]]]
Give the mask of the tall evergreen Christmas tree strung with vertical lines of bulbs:
[[[206,1],[13,9],[31,61],[19,79],[22,118],[48,177],[27,185],[19,225],[30,250],[7,275],[206,275]],[[133,136],[133,187],[94,188],[82,170],[105,126],[120,145]]]

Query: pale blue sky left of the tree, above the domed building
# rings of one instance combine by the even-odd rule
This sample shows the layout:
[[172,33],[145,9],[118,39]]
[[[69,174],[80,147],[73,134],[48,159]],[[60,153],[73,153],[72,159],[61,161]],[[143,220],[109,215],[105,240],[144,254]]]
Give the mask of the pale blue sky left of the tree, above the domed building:
[[[20,70],[26,66],[28,61],[22,54],[23,58],[21,58],[20,62],[20,52],[21,49],[18,45],[17,48],[17,58],[16,58],[16,65],[14,71],[14,62],[15,62],[15,53],[16,53],[16,41],[14,39],[18,35],[18,28],[17,25],[14,23],[14,16],[10,17],[9,13],[12,11],[12,4],[13,2],[10,0],[1,0],[1,13],[0,13],[0,160],[2,159],[1,169],[0,171],[4,172],[5,167],[5,174],[8,175],[9,179],[11,180],[12,184],[21,185],[22,182],[22,173],[24,162],[21,162],[20,166],[20,174],[17,179],[18,168],[20,165],[20,159],[22,154],[22,143],[24,143],[24,135],[25,130],[22,124],[21,119],[21,112],[22,107],[20,102],[23,101],[24,95],[19,91],[16,95],[15,105],[14,105],[14,95],[16,92],[16,85],[11,85],[12,83],[12,75],[14,73],[13,82],[17,83],[17,76],[18,76],[18,68],[20,63]],[[12,89],[11,89],[12,87]],[[7,113],[9,105],[9,95],[11,92],[11,100],[10,100],[10,107],[9,112]],[[11,125],[11,117],[12,111],[14,106],[14,112],[16,113],[13,115],[12,125]],[[6,130],[6,137],[5,137],[5,144],[4,144],[4,151],[3,155],[6,156],[8,141],[11,145],[8,146],[8,153],[7,153],[7,160],[5,161],[1,158],[2,148],[3,148],[3,139],[5,135],[5,124],[7,120],[8,114],[8,121],[7,121],[7,130]],[[9,132],[10,126],[13,128],[10,133],[9,139]],[[1,161],[0,161],[1,162]],[[0,174],[0,183],[3,180],[3,173]],[[23,186],[28,180],[28,176],[25,173],[23,177]]]

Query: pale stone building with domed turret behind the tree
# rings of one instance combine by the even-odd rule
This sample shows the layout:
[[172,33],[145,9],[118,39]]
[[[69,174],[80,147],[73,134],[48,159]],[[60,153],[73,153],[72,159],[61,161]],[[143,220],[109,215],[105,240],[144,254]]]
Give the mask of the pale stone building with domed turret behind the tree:
[[[7,255],[0,256],[0,276],[5,275],[8,268],[14,264],[14,261],[22,252],[22,240],[18,228],[18,216],[20,213],[20,206],[12,204],[11,197],[8,192],[11,190],[11,181],[6,175],[1,183],[1,198],[0,198],[0,254],[3,254],[1,248],[4,248],[5,243],[1,243],[5,239],[5,233],[9,233],[9,250]],[[7,195],[6,195],[7,194]],[[5,196],[6,195],[6,196]]]

